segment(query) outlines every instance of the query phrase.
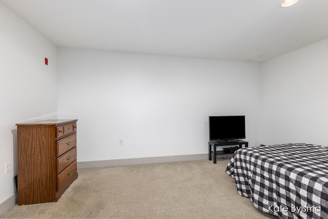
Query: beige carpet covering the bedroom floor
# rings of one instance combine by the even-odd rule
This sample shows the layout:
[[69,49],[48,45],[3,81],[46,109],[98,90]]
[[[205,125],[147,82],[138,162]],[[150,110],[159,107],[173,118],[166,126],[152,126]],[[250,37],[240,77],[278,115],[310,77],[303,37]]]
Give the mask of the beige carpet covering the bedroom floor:
[[237,193],[228,162],[78,169],[58,202],[14,206],[1,218],[277,218]]

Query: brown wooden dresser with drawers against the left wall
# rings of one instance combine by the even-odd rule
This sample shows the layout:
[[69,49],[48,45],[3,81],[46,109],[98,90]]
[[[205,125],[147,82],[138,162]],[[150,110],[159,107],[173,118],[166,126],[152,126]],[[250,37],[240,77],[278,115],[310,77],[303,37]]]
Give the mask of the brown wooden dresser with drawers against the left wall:
[[76,121],[16,124],[18,205],[57,202],[76,180]]

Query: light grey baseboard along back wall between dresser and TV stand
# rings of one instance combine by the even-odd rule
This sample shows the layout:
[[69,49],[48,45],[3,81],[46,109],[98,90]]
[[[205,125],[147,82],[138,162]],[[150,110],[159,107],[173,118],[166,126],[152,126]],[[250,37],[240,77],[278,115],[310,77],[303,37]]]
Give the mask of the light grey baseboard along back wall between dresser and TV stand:
[[106,161],[83,161],[83,162],[77,162],[77,168],[111,167],[111,166],[135,165],[135,164],[154,164],[154,163],[166,163],[166,162],[176,162],[176,161],[206,160],[209,158],[208,156],[209,154],[190,154],[190,155],[176,155],[176,156],[130,158],[130,159],[106,160]]

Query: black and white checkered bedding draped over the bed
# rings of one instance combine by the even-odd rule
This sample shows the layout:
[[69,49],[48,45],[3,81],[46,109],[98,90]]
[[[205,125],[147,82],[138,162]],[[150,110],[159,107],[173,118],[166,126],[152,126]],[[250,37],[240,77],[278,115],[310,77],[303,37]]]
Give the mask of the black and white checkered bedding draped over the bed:
[[328,218],[328,147],[285,144],[237,150],[227,173],[238,193],[279,218]]

